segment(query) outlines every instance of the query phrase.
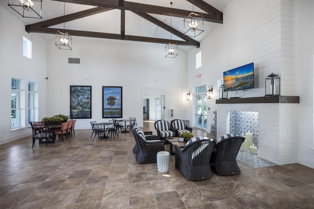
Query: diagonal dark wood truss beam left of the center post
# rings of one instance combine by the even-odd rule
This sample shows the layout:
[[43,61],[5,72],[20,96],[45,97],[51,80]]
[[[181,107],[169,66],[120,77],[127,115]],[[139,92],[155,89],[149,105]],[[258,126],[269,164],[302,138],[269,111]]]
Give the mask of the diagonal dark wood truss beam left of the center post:
[[87,10],[83,10],[80,12],[76,12],[73,14],[69,14],[69,15],[65,15],[65,16],[61,16],[61,17],[57,17],[57,18],[53,18],[50,20],[46,20],[46,21],[42,21],[39,23],[35,23],[32,24],[32,26],[34,27],[50,27],[50,26],[55,26],[61,23],[66,23],[72,20],[77,20],[79,18],[83,18],[83,17],[87,17],[90,15],[95,15],[98,13],[102,13],[102,12],[106,12],[112,10],[112,8],[104,8],[104,7],[95,7],[92,9],[87,9]]

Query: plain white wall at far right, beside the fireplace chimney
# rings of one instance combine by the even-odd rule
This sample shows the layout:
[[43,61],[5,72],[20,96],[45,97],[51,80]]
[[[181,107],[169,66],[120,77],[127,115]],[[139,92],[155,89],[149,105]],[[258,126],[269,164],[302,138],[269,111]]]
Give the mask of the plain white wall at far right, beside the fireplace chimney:
[[293,60],[295,92],[299,104],[299,157],[301,164],[314,168],[313,71],[314,1],[293,0]]

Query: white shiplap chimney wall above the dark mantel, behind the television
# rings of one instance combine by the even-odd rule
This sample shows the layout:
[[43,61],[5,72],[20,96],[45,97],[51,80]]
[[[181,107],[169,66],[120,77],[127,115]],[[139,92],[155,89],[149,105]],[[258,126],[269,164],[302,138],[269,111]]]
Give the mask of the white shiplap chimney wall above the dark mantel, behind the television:
[[264,96],[272,72],[281,77],[281,95],[293,95],[291,16],[291,0],[234,0],[225,8],[225,69],[255,65],[255,88],[244,97]]

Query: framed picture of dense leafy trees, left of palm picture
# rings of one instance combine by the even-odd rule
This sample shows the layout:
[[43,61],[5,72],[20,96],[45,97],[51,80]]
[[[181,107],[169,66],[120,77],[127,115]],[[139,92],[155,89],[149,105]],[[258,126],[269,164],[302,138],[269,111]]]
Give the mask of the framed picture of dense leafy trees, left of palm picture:
[[71,118],[92,118],[92,86],[70,86]]

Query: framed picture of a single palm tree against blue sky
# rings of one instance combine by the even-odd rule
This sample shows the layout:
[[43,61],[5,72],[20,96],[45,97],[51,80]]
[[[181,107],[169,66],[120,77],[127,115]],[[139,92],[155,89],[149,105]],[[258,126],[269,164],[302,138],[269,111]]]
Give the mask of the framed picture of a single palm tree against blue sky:
[[122,118],[122,86],[103,86],[103,118]]

